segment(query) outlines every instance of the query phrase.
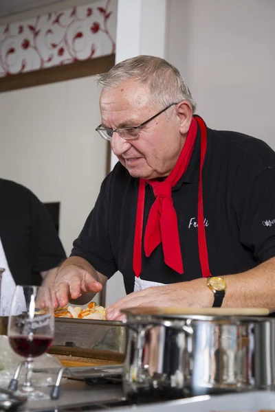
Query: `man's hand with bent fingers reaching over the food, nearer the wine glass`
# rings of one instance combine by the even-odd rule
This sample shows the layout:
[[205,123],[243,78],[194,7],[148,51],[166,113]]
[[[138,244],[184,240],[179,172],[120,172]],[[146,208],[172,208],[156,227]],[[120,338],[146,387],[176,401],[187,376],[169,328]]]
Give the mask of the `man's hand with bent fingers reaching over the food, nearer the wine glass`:
[[72,257],[58,269],[54,282],[54,308],[66,306],[71,299],[90,293],[87,301],[102,290],[107,277],[96,272],[85,259]]

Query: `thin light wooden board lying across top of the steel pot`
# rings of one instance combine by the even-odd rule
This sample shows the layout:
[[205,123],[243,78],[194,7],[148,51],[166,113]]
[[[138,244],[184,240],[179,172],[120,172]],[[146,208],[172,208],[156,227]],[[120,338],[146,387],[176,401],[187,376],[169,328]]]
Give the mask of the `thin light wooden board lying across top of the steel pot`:
[[210,316],[267,316],[270,310],[267,308],[129,308],[122,310],[126,314],[133,315],[185,315],[201,314]]

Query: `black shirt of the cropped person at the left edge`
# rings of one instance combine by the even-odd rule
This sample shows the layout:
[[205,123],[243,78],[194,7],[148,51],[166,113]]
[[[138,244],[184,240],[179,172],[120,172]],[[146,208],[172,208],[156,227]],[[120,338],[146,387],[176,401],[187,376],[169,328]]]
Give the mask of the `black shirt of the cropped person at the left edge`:
[[66,258],[47,208],[26,187],[3,179],[0,237],[16,284],[32,284],[32,270],[48,271]]

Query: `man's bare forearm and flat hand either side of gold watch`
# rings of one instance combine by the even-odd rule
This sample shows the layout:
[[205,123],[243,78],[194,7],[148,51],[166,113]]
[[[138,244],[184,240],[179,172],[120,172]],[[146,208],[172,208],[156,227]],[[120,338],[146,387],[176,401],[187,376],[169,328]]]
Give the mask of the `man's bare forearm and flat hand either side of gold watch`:
[[[223,308],[267,308],[275,312],[275,258],[243,273],[221,275],[226,283]],[[124,297],[107,309],[107,319],[121,320],[121,309],[138,306],[211,308],[214,296],[206,278],[153,286]]]

